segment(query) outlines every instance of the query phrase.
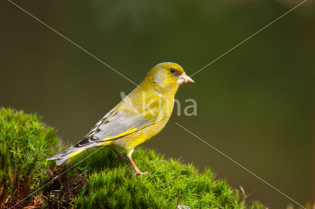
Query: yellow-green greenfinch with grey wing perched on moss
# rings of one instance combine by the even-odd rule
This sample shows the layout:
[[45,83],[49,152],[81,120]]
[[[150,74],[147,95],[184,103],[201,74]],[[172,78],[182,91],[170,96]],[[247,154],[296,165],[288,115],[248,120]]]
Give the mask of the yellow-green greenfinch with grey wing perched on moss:
[[174,107],[174,97],[180,85],[193,83],[183,68],[172,62],[153,67],[143,81],[119,104],[110,110],[80,141],[63,152],[46,160],[57,159],[57,165],[84,150],[96,146],[126,150],[126,155],[135,169],[131,158],[135,147],[157,135],[166,125]]

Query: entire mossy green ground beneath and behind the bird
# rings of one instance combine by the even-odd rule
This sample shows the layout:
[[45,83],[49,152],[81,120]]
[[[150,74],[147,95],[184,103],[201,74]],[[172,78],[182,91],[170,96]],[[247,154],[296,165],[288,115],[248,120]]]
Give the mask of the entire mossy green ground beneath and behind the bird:
[[47,167],[57,177],[78,163],[36,192],[42,196],[30,196],[19,206],[176,208],[181,194],[179,203],[190,208],[263,208],[259,203],[246,205],[244,190],[232,188],[225,179],[215,179],[210,168],[199,172],[193,164],[165,159],[141,147],[133,159],[140,170],[150,175],[134,176],[129,162],[105,148],[89,149],[56,167],[54,161],[45,160],[61,147],[51,127],[39,122],[35,114],[4,108],[0,113],[0,183],[2,188],[8,187],[4,199],[10,198],[5,206],[13,206],[50,182]]

